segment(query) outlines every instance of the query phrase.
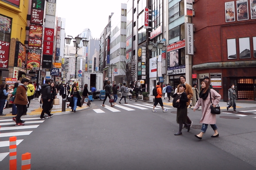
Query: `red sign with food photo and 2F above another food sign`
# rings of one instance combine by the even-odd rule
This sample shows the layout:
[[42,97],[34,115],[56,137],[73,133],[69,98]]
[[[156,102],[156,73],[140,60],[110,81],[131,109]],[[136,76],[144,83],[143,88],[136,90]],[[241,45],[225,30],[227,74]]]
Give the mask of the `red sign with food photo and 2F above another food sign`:
[[42,26],[30,25],[28,45],[31,47],[42,47],[42,36],[43,36]]

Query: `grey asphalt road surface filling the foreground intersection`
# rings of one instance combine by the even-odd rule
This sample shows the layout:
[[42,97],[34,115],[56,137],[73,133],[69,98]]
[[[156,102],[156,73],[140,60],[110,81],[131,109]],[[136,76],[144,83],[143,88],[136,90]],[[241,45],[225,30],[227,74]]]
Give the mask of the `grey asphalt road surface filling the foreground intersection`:
[[[140,107],[145,109],[120,104],[134,110],[114,107],[119,112],[113,112],[96,100],[91,109],[55,115],[32,130],[8,130],[1,134],[33,131],[27,136],[17,136],[17,140],[24,139],[17,146],[17,169],[21,167],[21,154],[26,152],[31,153],[31,169],[34,170],[256,169],[256,114],[253,114],[256,111],[247,112],[251,113],[247,116],[236,116],[246,112],[217,115],[220,136],[211,138],[213,130],[209,126],[200,141],[194,137],[199,134],[198,129],[191,129],[189,133],[184,129],[183,135],[174,136],[179,127],[176,114],[170,112],[175,112],[175,108],[165,113],[157,109],[157,113],[152,113],[144,102],[128,103],[135,107],[139,106],[135,104],[142,104],[145,107]],[[256,107],[237,110],[253,109]],[[189,109],[188,112],[193,125],[201,125],[201,111]],[[28,125],[34,124],[25,126]],[[0,141],[8,139],[3,137]],[[0,147],[0,153],[8,151],[8,147]],[[7,169],[9,155],[0,162],[0,170]]]

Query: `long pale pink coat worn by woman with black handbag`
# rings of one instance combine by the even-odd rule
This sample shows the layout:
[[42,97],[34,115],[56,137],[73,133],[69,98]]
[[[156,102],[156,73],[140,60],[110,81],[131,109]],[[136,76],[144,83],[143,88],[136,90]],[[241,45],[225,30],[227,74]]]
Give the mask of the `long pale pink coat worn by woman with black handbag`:
[[[213,89],[211,89],[210,91],[212,104],[217,105],[220,101],[221,96]],[[202,106],[202,118],[200,120],[200,123],[216,124],[216,115],[211,113],[210,105],[210,94],[205,100],[199,98],[199,100],[196,102],[194,107],[195,109],[198,109],[199,106]]]

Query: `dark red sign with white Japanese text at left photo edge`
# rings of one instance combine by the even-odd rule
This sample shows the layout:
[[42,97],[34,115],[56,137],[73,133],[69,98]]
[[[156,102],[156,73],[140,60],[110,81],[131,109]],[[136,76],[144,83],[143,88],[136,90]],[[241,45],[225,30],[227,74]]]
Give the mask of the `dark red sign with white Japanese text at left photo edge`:
[[10,43],[0,41],[0,68],[8,67]]

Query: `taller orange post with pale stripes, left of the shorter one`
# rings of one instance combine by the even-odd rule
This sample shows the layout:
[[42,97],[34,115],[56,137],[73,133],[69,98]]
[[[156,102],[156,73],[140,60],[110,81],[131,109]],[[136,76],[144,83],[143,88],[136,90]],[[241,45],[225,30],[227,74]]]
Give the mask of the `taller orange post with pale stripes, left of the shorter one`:
[[17,145],[16,145],[16,140],[17,137],[10,137],[10,170],[17,170]]

